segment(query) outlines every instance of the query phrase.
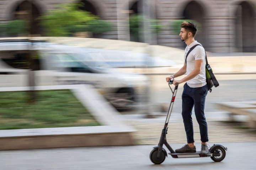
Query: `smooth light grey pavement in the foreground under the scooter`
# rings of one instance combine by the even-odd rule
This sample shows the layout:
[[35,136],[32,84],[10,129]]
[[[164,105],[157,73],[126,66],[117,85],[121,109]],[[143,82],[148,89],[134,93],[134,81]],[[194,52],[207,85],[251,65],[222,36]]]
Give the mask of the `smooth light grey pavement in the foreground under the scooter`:
[[[209,143],[213,145],[213,143]],[[84,147],[0,151],[1,170],[255,170],[256,142],[222,143],[228,148],[222,162],[210,158],[175,159],[170,155],[154,165],[149,153],[155,145]],[[172,144],[176,149],[182,144]],[[200,145],[196,145],[199,149]]]

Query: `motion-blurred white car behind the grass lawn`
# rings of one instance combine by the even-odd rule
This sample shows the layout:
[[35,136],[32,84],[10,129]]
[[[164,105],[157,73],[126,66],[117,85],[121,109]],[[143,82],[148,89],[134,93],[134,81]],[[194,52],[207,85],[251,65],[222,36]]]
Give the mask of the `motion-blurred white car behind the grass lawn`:
[[28,50],[38,54],[38,70],[34,71],[36,85],[92,84],[117,109],[133,108],[145,101],[144,75],[120,72],[95,61],[97,49],[90,52],[49,42],[0,39],[1,87],[28,86]]

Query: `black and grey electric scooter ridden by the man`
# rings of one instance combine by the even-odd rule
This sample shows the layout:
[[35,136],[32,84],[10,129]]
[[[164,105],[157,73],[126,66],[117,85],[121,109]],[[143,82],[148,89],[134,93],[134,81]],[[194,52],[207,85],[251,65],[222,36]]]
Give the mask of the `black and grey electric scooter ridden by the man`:
[[154,164],[161,164],[162,162],[164,162],[165,157],[167,157],[167,152],[163,148],[163,145],[165,145],[167,147],[167,149],[169,149],[169,151],[170,151],[169,154],[172,156],[172,158],[210,157],[214,162],[222,161],[225,158],[226,151],[228,151],[228,149],[219,144],[216,144],[216,145],[214,144],[212,147],[210,147],[208,154],[201,154],[201,151],[196,151],[195,153],[176,153],[171,148],[171,146],[167,143],[167,141],[166,141],[166,134],[167,134],[167,129],[168,129],[167,125],[169,123],[172,107],[173,107],[175,96],[176,96],[177,89],[178,89],[178,83],[176,83],[174,90],[172,90],[170,85],[172,85],[173,81],[174,81],[174,79],[170,79],[170,81],[168,83],[168,85],[172,91],[172,100],[171,100],[169,111],[168,111],[168,114],[166,117],[164,129],[162,129],[162,134],[161,134],[158,146],[154,147],[153,150],[150,152],[149,158],[150,158],[151,162],[153,162]]

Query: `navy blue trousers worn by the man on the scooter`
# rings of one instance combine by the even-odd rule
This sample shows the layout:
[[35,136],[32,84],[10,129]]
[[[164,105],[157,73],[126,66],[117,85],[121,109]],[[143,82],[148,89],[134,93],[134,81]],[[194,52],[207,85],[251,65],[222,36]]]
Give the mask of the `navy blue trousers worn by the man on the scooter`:
[[208,92],[208,87],[205,85],[203,87],[191,88],[186,83],[183,88],[182,118],[187,135],[187,142],[194,142],[193,121],[191,117],[193,107],[197,122],[199,124],[201,141],[208,142],[207,122],[204,116],[204,104]]

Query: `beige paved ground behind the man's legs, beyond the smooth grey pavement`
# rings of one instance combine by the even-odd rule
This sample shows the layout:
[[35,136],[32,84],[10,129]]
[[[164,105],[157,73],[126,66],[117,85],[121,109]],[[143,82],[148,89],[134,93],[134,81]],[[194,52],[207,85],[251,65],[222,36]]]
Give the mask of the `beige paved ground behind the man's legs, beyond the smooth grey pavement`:
[[[206,113],[208,114],[208,113]],[[232,123],[227,123],[228,113],[211,113],[214,117],[207,117],[209,142],[256,142],[256,131],[238,129]],[[226,115],[226,117],[225,117]],[[127,124],[136,131],[132,133],[135,145],[156,145],[164,128],[166,116],[145,119],[145,115],[123,115]],[[199,126],[194,114],[194,140],[201,143]],[[242,119],[242,118],[241,118]],[[246,122],[243,124],[246,125]],[[181,115],[172,113],[168,124],[167,141],[169,143],[186,143],[186,133]]]

